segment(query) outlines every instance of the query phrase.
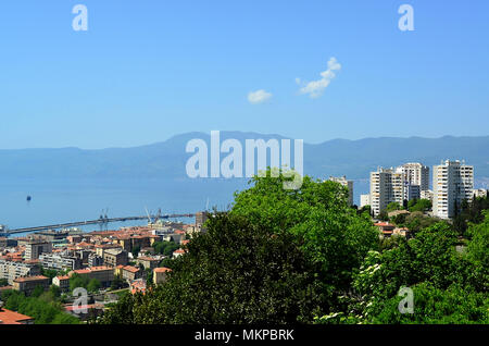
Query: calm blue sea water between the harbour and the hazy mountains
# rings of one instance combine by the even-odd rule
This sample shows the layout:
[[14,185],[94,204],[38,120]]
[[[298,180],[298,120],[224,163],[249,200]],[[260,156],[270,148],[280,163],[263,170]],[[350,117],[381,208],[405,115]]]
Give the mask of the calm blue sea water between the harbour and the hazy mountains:
[[[368,182],[354,182],[354,199]],[[0,224],[9,228],[109,218],[146,215],[146,208],[163,214],[195,213],[216,207],[225,210],[247,180],[3,180],[0,181]],[[27,201],[26,197],[32,196]],[[209,203],[208,203],[209,200]],[[192,220],[181,220],[191,222]],[[102,228],[145,224],[146,221],[110,223]],[[101,230],[100,225],[82,227]],[[15,236],[22,236],[16,234]]]

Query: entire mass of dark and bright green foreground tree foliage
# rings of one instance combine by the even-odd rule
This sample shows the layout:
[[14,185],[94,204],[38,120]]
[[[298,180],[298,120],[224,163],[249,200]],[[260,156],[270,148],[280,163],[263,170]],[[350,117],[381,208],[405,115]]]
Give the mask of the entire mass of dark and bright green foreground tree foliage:
[[[289,190],[267,173],[165,260],[164,284],[123,296],[101,322],[488,323],[489,213],[462,239],[417,201],[403,220],[415,236],[380,239],[340,184],[305,176]],[[414,313],[398,309],[402,287]]]

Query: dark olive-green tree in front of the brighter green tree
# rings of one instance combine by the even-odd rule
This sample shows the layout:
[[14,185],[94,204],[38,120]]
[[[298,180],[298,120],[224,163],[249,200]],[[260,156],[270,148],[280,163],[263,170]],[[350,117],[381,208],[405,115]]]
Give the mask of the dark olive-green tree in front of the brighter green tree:
[[125,297],[104,323],[285,323],[312,321],[323,285],[294,236],[217,213],[167,282]]

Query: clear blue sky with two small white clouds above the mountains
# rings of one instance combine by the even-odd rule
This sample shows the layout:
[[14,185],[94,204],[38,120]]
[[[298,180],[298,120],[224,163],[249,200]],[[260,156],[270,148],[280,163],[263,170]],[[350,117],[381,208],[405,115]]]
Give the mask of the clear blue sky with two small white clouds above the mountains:
[[[414,30],[399,29],[402,4]],[[488,13],[487,0],[2,1],[0,149],[213,129],[489,135]]]

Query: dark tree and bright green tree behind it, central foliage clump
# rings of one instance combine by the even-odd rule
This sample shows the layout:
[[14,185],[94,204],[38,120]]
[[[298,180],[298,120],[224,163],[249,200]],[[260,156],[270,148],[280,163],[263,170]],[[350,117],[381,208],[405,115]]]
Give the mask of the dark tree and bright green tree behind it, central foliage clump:
[[377,248],[378,231],[348,206],[340,184],[304,177],[286,190],[283,182],[254,178],[172,261],[164,285],[124,297],[104,322],[312,322],[330,311]]

